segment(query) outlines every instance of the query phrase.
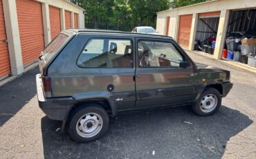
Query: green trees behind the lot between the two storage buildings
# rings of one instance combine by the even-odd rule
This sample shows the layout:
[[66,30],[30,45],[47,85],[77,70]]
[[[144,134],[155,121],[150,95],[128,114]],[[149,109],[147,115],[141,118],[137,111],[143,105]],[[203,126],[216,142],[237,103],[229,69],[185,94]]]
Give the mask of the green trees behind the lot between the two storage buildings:
[[[156,12],[170,0],[71,0],[86,10],[86,28],[131,31],[135,26],[156,26]],[[91,26],[90,26],[91,25]]]

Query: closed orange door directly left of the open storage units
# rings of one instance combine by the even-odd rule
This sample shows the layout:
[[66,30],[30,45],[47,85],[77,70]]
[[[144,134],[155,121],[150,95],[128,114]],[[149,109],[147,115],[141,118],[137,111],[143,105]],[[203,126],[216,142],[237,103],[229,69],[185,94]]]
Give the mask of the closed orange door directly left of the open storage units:
[[191,23],[192,15],[180,16],[178,43],[185,48],[188,48],[190,43]]

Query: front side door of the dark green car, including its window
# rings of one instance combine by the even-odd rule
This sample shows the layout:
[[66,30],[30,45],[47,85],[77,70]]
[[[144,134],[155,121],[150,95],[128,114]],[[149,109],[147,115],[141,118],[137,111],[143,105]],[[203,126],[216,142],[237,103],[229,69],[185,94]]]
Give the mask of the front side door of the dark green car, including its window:
[[[194,68],[172,40],[136,38],[136,107],[185,104],[195,93]],[[181,62],[190,66],[181,68]]]

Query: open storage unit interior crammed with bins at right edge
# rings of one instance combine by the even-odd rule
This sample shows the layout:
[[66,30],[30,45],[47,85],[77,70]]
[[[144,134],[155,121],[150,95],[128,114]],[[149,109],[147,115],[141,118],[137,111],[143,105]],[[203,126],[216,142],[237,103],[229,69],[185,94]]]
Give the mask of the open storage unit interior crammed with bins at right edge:
[[[232,10],[228,19],[226,41],[222,57],[249,64],[256,55],[256,9]],[[246,42],[244,38],[250,39]],[[255,64],[249,64],[256,67]],[[253,61],[252,61],[253,62]]]

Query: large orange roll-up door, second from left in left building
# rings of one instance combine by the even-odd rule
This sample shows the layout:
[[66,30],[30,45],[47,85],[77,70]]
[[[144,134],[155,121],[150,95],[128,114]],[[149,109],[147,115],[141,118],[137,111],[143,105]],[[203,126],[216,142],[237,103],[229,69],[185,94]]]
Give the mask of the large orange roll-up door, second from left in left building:
[[44,29],[41,3],[17,0],[17,15],[23,64],[35,61],[44,50]]

